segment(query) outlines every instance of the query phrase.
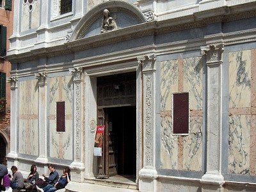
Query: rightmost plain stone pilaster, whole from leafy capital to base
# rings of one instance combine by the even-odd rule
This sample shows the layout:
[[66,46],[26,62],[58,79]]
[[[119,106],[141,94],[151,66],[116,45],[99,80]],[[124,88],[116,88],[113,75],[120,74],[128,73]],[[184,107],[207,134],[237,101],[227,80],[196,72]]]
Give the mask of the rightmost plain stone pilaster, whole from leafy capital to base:
[[[203,191],[221,191],[221,80],[223,45],[201,47],[207,66],[207,165],[202,177]],[[207,186],[209,185],[209,186]],[[215,186],[215,187],[214,187]],[[213,187],[213,188],[212,188]]]

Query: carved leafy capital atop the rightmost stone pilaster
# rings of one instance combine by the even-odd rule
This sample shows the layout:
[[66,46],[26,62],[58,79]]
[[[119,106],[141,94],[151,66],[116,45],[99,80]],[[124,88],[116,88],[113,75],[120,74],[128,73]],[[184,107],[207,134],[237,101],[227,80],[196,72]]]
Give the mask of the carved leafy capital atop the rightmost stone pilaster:
[[222,63],[222,52],[224,45],[208,45],[207,47],[201,47],[201,53],[206,55],[207,64]]

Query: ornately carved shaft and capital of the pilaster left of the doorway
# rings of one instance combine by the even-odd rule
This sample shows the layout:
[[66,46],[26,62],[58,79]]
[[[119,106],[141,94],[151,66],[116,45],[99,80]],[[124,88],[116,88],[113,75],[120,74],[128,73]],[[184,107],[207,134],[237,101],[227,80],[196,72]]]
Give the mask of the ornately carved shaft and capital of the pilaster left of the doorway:
[[74,126],[75,126],[75,159],[81,161],[81,82],[82,68],[69,69],[74,82]]

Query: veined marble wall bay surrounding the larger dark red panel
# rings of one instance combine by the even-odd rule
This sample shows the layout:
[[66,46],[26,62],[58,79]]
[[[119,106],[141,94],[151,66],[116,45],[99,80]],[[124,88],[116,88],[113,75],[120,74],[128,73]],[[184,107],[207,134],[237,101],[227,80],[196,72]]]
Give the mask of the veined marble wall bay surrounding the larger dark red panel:
[[[203,65],[201,57],[161,63],[161,168],[202,170],[202,115],[190,117],[188,135],[173,135],[172,94],[189,92],[189,109],[202,110]],[[182,71],[179,71],[182,70]]]

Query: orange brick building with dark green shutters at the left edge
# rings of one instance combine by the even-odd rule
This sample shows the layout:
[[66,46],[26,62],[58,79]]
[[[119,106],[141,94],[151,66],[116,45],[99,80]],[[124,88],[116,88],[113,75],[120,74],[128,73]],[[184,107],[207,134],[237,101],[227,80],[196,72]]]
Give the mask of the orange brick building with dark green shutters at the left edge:
[[6,163],[6,154],[10,152],[10,77],[11,64],[6,59],[9,48],[8,38],[12,35],[12,1],[0,1],[0,163]]

